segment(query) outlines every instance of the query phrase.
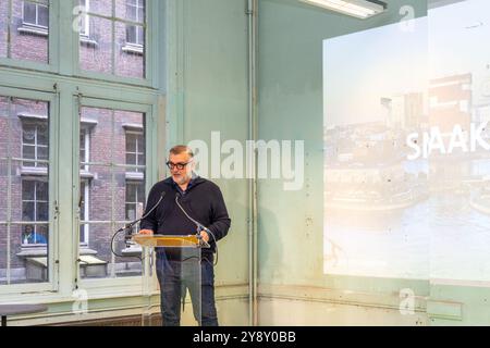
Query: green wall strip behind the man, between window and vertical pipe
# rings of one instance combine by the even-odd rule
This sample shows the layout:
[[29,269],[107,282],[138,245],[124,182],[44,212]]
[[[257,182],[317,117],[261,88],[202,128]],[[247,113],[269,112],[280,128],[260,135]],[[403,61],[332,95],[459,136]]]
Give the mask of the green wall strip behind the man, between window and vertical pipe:
[[[169,1],[168,146],[248,136],[246,1]],[[171,51],[172,50],[172,51]],[[221,324],[248,324],[248,210],[245,179],[212,179],[232,220],[219,241],[216,273]]]

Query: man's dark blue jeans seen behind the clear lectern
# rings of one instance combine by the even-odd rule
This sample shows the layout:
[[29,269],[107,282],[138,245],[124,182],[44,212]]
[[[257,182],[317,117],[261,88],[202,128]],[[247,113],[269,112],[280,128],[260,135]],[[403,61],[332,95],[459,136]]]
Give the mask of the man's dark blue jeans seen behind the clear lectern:
[[[157,276],[160,283],[160,307],[163,326],[180,326],[181,299],[186,289],[191,294],[194,318],[201,326],[218,326],[215,304],[215,270],[212,258],[199,260],[167,260],[157,257]],[[200,284],[199,284],[200,283]],[[199,293],[200,286],[200,293]]]

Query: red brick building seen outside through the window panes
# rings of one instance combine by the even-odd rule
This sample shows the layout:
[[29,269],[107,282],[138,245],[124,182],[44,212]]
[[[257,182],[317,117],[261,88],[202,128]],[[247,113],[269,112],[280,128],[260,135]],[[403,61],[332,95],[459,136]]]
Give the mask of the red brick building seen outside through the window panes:
[[[115,9],[112,0],[78,4],[86,9],[79,17],[81,70],[144,78],[146,1],[115,1]],[[1,1],[0,58],[48,63],[49,10],[47,0]],[[46,257],[50,247],[49,220],[56,207],[49,204],[49,107],[0,96],[0,132],[9,135],[0,139],[0,195],[9,197],[0,199],[0,250],[8,244],[11,250],[10,260],[0,252],[0,284],[8,264],[11,282],[47,281],[46,274],[29,277],[26,260]],[[79,114],[81,254],[110,263],[114,225],[134,219],[146,200],[145,114],[97,108],[81,108]],[[118,276],[125,271],[127,263],[117,260],[113,270],[82,276]]]

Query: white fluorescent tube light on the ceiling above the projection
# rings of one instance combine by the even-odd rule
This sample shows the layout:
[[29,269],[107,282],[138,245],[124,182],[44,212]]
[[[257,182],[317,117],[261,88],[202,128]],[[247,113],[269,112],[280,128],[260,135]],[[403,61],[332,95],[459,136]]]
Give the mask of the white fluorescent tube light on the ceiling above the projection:
[[341,12],[358,18],[367,18],[384,11],[385,3],[367,0],[299,0],[323,9]]

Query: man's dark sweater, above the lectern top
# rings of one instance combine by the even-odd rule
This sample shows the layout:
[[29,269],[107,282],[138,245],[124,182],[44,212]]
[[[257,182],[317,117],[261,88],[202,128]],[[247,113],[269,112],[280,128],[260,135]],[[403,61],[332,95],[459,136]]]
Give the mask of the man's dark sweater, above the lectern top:
[[[155,184],[148,195],[146,210],[149,211],[158,202],[163,191],[166,195],[162,201],[146,219],[142,220],[140,228],[151,229],[155,234],[161,235],[196,234],[196,224],[185,216],[175,202],[177,188],[172,177]],[[220,240],[228,234],[231,220],[223,195],[216,184],[196,177],[185,195],[179,194],[179,202],[192,219],[212,232],[216,240]],[[212,236],[209,236],[209,245],[210,248],[203,249],[203,253],[216,251]]]

